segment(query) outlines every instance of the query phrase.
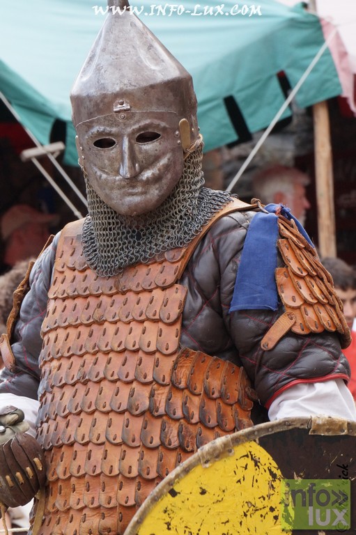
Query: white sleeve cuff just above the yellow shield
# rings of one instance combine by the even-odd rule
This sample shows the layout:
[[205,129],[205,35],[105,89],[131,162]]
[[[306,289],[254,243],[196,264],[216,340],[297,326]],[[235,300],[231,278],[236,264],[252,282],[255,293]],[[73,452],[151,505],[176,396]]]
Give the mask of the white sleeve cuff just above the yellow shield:
[[270,420],[312,414],[356,420],[355,401],[342,379],[294,385],[279,394],[268,410]]

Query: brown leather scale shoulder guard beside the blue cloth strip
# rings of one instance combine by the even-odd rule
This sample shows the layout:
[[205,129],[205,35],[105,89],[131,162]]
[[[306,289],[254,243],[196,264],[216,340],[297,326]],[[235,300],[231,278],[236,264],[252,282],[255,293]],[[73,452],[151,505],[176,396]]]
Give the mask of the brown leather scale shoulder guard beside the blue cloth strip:
[[350,330],[332,276],[295,222],[279,215],[278,227],[277,247],[285,265],[277,267],[276,281],[286,311],[265,334],[261,347],[272,349],[289,330],[296,334],[327,330],[338,332],[341,348],[347,348],[351,341]]

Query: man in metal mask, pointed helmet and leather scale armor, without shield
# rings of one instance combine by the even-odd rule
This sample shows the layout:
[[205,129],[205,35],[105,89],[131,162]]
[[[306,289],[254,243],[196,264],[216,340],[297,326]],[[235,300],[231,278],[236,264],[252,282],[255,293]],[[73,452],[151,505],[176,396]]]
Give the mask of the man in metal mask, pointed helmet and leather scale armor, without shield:
[[128,10],[71,98],[88,216],[42,252],[1,339],[0,499],[36,495],[31,534],[114,535],[263,411],[356,419],[350,335],[288,210],[203,187],[192,79]]

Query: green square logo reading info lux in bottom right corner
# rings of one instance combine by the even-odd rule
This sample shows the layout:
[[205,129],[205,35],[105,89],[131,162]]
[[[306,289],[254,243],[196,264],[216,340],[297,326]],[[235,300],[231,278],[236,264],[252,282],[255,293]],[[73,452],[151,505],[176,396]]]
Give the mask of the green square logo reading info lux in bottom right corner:
[[281,481],[282,529],[350,529],[350,480]]

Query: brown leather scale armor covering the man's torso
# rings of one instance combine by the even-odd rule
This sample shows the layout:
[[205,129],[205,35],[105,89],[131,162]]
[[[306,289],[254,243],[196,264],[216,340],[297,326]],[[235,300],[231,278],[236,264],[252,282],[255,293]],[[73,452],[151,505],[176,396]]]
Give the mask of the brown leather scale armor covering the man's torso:
[[81,226],[61,233],[42,324],[41,535],[123,534],[174,467],[252,425],[245,371],[179,345],[187,289],[178,281],[209,225],[187,247],[115,277],[86,265]]

